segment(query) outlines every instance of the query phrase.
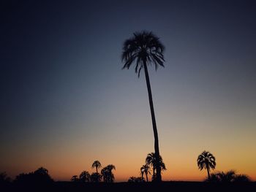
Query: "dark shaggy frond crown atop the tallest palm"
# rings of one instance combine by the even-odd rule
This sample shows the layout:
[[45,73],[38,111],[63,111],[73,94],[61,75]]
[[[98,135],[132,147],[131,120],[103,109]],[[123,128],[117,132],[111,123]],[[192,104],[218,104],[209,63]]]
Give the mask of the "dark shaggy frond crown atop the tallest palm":
[[152,32],[134,33],[134,37],[124,42],[121,55],[124,62],[123,69],[129,69],[132,63],[135,62],[135,72],[140,77],[140,70],[143,69],[144,61],[146,64],[154,63],[156,69],[158,65],[164,66],[164,50],[164,45]]

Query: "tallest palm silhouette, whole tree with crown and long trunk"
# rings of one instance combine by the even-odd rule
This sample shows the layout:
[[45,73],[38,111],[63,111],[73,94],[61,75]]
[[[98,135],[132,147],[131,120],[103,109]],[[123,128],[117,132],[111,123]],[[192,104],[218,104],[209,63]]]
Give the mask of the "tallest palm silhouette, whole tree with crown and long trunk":
[[155,36],[152,32],[143,31],[141,33],[135,33],[134,37],[127,39],[124,42],[123,53],[121,56],[121,59],[124,62],[123,69],[129,69],[132,63],[135,62],[135,72],[138,73],[138,77],[140,77],[141,69],[144,69],[145,72],[152,126],[154,131],[154,151],[157,159],[156,169],[158,182],[162,180],[161,168],[159,164],[159,141],[157,134],[157,123],[154,115],[151,85],[148,76],[148,65],[154,64],[156,69],[158,66],[164,66],[164,50],[165,47],[159,41],[157,36]]

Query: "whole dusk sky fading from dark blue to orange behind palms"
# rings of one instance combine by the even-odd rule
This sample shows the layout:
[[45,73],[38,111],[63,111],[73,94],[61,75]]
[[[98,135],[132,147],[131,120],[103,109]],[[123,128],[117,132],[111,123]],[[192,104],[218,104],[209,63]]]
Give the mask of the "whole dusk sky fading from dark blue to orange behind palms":
[[144,73],[122,68],[122,45],[153,31],[165,68],[149,69],[167,171],[203,180],[215,171],[256,180],[255,1],[1,1],[0,172],[40,166],[70,180],[113,164],[138,177],[154,136]]

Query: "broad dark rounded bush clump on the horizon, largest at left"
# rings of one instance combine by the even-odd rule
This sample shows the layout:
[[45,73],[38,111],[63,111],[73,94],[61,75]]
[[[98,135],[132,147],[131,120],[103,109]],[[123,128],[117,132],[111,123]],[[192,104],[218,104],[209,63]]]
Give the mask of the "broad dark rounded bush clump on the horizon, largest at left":
[[39,184],[39,183],[53,183],[53,179],[48,174],[48,169],[40,167],[34,172],[30,172],[29,174],[21,173],[15,178],[15,183],[23,183],[23,184]]

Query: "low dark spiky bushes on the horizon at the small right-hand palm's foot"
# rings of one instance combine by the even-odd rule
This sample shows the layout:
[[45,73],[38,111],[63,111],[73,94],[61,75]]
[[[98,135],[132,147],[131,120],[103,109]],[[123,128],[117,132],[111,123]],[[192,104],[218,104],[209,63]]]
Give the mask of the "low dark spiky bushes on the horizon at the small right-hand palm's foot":
[[246,183],[250,179],[246,174],[236,174],[234,170],[230,170],[212,173],[210,179],[207,178],[206,181],[211,183]]

